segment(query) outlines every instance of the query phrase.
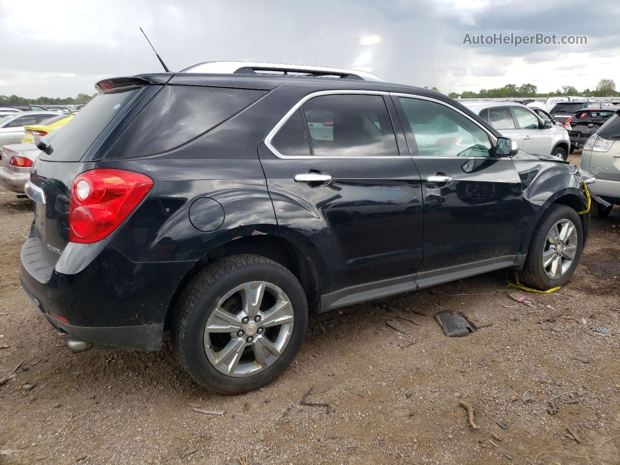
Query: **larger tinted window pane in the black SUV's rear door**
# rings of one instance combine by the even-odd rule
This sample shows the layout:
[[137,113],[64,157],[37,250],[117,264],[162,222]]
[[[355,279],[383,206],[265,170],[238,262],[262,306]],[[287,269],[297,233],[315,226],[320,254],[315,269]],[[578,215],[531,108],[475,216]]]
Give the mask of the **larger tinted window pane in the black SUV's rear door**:
[[303,106],[315,156],[397,156],[381,95],[321,95]]

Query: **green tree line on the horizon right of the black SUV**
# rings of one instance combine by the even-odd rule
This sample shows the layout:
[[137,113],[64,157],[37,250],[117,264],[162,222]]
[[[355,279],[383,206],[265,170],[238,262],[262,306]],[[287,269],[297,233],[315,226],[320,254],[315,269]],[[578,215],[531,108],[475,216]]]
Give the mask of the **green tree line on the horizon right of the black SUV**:
[[[428,87],[426,87],[428,89]],[[440,92],[436,87],[432,88],[433,91]],[[575,87],[569,86],[566,90],[556,89],[554,92],[547,92],[542,94],[538,92],[538,87],[534,84],[523,84],[522,86],[516,86],[516,84],[506,84],[503,87],[497,89],[480,89],[480,92],[465,91],[450,92],[448,97],[456,99],[494,99],[498,97],[552,97],[554,95],[581,95],[583,97],[620,97],[620,92],[616,91],[616,83],[613,79],[601,79],[596,85],[595,89],[584,89],[583,92],[578,91]]]

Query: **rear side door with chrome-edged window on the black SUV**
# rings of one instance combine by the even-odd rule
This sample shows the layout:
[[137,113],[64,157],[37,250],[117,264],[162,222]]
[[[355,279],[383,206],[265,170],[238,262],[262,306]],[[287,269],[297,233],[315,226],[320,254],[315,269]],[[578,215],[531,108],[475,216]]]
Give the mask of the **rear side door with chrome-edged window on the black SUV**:
[[[366,290],[379,290],[394,278],[415,287],[422,262],[420,175],[384,94],[312,94],[259,146],[280,235],[306,244],[322,294],[360,293],[365,283],[373,283]],[[327,306],[345,302],[338,299]]]

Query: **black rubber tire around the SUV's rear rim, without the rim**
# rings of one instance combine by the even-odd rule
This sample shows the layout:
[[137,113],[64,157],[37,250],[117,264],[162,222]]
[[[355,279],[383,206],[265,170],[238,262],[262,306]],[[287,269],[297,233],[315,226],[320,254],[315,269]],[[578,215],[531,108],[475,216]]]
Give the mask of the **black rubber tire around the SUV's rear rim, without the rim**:
[[[293,330],[288,344],[272,365],[246,377],[228,376],[209,361],[203,336],[219,299],[249,281],[267,281],[283,290],[293,306]],[[294,275],[279,263],[259,255],[225,257],[201,270],[179,297],[172,322],[172,342],[185,370],[199,384],[221,394],[241,394],[263,386],[282,373],[297,355],[308,325],[306,295]],[[266,333],[265,333],[266,334]]]

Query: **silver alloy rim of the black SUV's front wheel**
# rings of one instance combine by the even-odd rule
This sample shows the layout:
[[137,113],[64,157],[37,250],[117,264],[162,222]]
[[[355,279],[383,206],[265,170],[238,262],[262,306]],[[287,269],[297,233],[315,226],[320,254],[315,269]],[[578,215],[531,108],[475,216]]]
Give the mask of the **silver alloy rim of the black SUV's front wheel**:
[[570,219],[560,219],[549,230],[542,251],[542,268],[552,280],[567,273],[577,256],[577,228]]

